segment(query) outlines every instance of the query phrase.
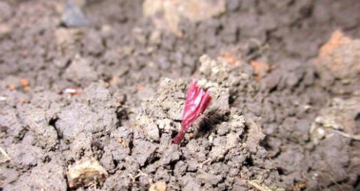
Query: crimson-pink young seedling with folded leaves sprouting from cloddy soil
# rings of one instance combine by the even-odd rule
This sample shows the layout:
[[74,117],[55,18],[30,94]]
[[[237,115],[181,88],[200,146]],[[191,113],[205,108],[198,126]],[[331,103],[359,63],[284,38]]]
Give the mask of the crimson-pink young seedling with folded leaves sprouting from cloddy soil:
[[187,90],[187,99],[184,110],[182,111],[182,122],[180,132],[173,139],[173,143],[178,144],[184,139],[187,129],[200,117],[211,101],[209,91],[200,88],[195,80],[191,82]]

